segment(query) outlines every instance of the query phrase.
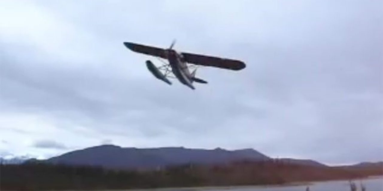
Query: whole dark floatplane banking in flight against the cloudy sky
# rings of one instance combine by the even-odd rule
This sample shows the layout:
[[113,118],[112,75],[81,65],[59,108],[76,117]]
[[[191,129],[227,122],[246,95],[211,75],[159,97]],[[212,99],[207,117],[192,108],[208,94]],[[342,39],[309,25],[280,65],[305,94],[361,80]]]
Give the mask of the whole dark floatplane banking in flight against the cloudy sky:
[[[168,49],[162,49],[154,46],[137,44],[133,42],[124,42],[124,45],[133,52],[142,53],[159,58],[166,59],[168,63],[160,67],[156,67],[150,60],[146,60],[148,70],[157,78],[165,83],[172,85],[168,78],[177,78],[178,81],[191,89],[195,89],[193,82],[207,84],[203,79],[195,76],[198,66],[212,66],[228,70],[242,70],[246,67],[245,63],[240,60],[232,60],[228,58],[212,57],[201,54],[177,52],[173,49],[175,40]],[[190,73],[189,69],[194,71]],[[163,71],[164,73],[161,73]],[[173,73],[174,76],[171,75]]]

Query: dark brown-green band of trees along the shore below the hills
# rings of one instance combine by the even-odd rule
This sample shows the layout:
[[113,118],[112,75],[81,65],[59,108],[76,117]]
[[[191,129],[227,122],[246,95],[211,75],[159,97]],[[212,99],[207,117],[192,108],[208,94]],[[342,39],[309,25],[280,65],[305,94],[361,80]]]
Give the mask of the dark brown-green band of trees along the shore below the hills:
[[[380,174],[383,174],[380,170]],[[181,165],[156,170],[108,170],[101,167],[24,163],[0,165],[1,190],[95,190],[189,186],[265,185],[293,181],[353,179],[366,172],[311,167],[275,161],[224,165]]]

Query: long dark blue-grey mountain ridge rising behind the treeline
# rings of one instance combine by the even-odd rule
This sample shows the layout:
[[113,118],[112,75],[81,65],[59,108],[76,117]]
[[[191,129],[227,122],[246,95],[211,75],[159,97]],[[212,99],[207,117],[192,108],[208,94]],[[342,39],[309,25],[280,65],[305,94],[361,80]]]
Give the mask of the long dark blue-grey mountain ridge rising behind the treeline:
[[94,165],[118,169],[149,169],[170,165],[219,164],[237,160],[270,160],[270,157],[254,149],[228,151],[225,149],[187,149],[184,147],[160,147],[138,149],[103,145],[68,152],[45,160],[48,163],[67,165]]

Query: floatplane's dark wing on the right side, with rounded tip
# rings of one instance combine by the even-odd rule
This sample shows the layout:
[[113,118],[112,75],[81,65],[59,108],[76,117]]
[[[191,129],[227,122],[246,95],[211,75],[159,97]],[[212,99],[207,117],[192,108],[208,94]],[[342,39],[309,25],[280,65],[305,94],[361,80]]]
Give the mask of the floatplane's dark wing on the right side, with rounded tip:
[[185,62],[202,66],[213,66],[229,70],[242,70],[246,67],[245,63],[240,60],[232,60],[227,58],[212,57],[200,54],[181,53]]

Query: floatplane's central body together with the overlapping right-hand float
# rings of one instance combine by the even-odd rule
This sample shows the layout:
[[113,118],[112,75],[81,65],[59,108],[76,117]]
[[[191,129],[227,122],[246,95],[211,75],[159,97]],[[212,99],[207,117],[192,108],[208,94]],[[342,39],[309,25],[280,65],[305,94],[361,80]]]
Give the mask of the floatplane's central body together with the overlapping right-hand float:
[[192,84],[192,76],[188,66],[185,62],[183,62],[182,56],[175,50],[167,50],[167,60],[169,61],[169,65],[172,67],[172,72],[178,81],[191,89],[195,89]]

